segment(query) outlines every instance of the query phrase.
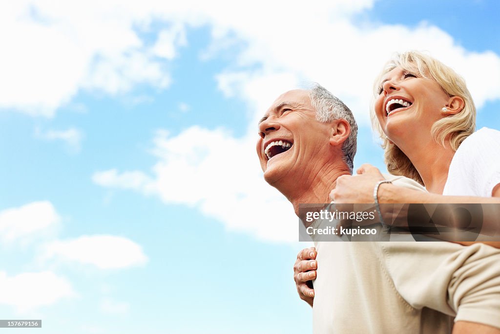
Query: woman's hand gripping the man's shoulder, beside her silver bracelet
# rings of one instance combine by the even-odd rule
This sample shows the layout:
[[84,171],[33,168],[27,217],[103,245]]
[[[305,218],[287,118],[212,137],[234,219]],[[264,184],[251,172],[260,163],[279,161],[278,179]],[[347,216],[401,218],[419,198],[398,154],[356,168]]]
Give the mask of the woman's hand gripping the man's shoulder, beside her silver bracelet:
[[337,203],[373,203],[373,188],[384,180],[378,168],[364,164],[356,171],[358,175],[342,175],[337,178],[330,199]]

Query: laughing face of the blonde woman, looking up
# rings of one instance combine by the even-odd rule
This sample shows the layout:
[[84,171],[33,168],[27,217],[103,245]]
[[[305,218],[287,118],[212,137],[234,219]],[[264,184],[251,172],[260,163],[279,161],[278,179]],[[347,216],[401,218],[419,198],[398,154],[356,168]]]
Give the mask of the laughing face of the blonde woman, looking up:
[[376,117],[385,135],[397,146],[408,140],[426,142],[432,124],[443,117],[441,109],[449,99],[434,80],[398,67],[382,76],[378,93]]

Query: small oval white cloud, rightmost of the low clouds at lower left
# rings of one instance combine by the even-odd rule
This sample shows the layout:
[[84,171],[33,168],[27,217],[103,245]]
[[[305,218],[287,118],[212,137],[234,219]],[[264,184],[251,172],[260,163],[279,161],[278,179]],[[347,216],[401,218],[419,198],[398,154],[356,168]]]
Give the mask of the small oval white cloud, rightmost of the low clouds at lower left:
[[42,260],[90,264],[99,269],[126,268],[145,264],[148,260],[140,245],[114,235],[84,235],[53,241],[43,248]]

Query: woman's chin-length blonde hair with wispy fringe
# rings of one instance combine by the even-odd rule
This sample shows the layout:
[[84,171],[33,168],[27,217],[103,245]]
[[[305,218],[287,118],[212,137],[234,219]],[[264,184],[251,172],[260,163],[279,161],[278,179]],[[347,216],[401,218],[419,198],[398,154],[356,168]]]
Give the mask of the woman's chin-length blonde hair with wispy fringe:
[[[373,90],[375,98],[379,95],[382,76],[396,67],[433,79],[448,96],[459,96],[463,99],[464,107],[460,112],[443,117],[436,121],[431,128],[432,138],[437,143],[442,146],[448,144],[453,151],[456,151],[462,141],[475,131],[476,112],[465,81],[455,71],[438,60],[421,52],[409,51],[396,54],[392,60],[385,64],[383,71],[375,80]],[[384,158],[387,170],[393,175],[403,175],[423,184],[420,175],[408,157],[385,137],[375,115],[374,100],[370,108],[371,125],[382,139],[381,146],[385,151]]]

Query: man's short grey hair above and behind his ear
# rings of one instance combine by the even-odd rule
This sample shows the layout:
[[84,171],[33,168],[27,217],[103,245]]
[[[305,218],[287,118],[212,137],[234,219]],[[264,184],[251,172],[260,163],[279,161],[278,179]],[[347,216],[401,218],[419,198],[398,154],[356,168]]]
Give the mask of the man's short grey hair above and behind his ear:
[[343,160],[350,171],[354,168],[353,161],[356,154],[357,124],[354,116],[347,106],[337,97],[333,96],[319,84],[313,84],[309,89],[311,105],[316,109],[316,119],[327,123],[337,119],[344,119],[350,125],[350,133],[342,145]]

